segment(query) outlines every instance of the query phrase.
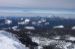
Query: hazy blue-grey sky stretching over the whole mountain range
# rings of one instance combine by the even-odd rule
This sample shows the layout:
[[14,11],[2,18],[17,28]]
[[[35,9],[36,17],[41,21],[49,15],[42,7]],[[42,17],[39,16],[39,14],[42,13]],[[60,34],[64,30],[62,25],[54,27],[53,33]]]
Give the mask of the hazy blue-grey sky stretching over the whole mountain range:
[[3,14],[3,12],[5,14],[20,13],[22,15],[23,13],[74,15],[75,0],[0,0],[0,13]]

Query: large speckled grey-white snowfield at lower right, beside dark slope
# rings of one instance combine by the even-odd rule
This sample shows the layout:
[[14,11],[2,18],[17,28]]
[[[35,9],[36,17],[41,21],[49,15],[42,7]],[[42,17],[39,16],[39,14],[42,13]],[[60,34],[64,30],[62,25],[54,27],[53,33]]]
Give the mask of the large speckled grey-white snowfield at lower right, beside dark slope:
[[32,41],[39,44],[38,48],[41,49],[43,46],[56,45],[56,49],[75,49],[75,44],[71,42],[65,42],[62,40],[52,40],[44,37],[32,37]]

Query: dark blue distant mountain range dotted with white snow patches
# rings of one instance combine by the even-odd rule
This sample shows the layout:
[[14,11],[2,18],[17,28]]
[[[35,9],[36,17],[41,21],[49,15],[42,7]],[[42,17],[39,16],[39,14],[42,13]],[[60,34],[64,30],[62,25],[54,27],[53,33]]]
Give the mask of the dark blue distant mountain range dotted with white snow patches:
[[63,18],[57,16],[36,16],[36,17],[28,17],[28,16],[8,16],[8,17],[0,17],[0,29],[2,28],[10,28],[17,26],[18,29],[25,29],[27,26],[33,26],[35,29],[51,29],[54,26],[63,25],[65,28],[71,28],[75,26],[75,19],[71,18]]

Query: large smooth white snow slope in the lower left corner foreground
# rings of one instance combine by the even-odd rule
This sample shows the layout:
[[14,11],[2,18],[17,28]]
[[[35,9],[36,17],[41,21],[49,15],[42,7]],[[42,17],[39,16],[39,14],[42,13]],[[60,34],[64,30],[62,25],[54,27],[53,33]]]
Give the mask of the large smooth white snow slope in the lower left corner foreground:
[[11,33],[0,30],[0,49],[28,49]]

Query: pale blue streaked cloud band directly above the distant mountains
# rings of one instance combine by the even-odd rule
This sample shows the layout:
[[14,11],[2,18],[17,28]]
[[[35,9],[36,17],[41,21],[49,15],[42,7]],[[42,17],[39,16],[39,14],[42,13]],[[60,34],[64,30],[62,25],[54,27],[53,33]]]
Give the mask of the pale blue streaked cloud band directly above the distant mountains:
[[0,16],[50,16],[50,15],[55,15],[59,17],[71,17],[75,18],[75,11],[66,11],[66,10],[6,10],[6,9],[0,9]]

